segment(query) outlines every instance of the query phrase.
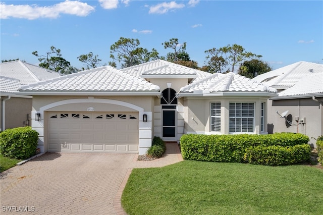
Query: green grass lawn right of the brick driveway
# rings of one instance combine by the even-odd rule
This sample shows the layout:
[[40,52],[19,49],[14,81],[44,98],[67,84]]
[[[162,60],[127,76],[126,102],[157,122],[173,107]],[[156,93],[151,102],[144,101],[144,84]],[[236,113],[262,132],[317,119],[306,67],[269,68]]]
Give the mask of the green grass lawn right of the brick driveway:
[[184,160],[134,169],[128,214],[322,214],[323,170]]

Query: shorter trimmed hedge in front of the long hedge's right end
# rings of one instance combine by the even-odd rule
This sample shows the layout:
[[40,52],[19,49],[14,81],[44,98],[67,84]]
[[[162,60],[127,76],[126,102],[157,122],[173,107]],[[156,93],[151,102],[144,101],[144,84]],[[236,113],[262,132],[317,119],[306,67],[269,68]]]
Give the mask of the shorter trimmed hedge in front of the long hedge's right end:
[[308,144],[294,146],[251,146],[246,149],[244,160],[250,164],[270,166],[291,165],[308,161],[311,147]]

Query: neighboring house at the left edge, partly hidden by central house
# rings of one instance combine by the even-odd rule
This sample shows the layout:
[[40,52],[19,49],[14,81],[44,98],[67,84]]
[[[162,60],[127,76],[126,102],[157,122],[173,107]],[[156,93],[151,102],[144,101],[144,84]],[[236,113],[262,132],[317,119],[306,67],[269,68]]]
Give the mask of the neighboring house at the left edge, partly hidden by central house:
[[22,61],[0,64],[0,129],[31,126],[32,96],[20,95],[21,85],[36,83],[61,74]]

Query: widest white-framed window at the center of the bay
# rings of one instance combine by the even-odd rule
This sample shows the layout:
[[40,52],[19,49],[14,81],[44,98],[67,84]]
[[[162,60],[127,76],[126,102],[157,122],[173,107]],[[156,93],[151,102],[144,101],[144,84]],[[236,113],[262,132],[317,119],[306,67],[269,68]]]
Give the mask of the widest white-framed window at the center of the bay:
[[229,102],[229,133],[254,133],[254,119],[255,102]]

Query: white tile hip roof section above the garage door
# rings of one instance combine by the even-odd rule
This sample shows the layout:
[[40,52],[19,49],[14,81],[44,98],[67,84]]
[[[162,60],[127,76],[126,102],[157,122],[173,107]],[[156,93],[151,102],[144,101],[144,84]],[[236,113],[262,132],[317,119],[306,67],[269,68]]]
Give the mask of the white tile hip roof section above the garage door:
[[159,87],[113,67],[100,67],[22,86],[20,91],[158,92]]

